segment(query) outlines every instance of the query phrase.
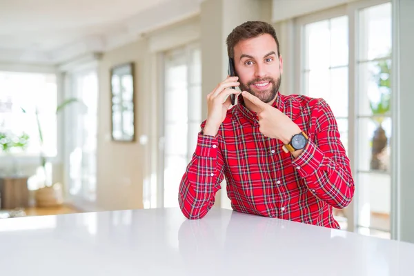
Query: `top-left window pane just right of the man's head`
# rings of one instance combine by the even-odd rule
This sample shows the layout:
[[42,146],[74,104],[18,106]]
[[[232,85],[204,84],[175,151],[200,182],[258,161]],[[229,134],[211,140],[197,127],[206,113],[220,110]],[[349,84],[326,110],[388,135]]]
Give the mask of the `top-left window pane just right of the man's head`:
[[305,69],[328,68],[330,65],[329,21],[318,21],[305,26]]

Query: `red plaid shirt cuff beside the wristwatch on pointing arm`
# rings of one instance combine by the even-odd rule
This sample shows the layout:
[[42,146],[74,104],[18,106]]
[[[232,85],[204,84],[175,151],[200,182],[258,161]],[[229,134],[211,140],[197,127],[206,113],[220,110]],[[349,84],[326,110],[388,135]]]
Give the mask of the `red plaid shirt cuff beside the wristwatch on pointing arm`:
[[304,151],[296,159],[293,159],[292,163],[301,177],[308,177],[322,166],[323,160],[324,152],[319,150],[313,141],[308,141]]

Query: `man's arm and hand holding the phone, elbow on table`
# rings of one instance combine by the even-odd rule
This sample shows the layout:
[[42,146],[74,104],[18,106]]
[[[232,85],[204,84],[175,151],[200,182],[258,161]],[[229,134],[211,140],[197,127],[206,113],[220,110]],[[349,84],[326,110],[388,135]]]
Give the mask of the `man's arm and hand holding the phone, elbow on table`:
[[230,95],[239,94],[238,77],[227,77],[207,95],[207,119],[201,124],[197,147],[179,184],[178,202],[188,219],[201,219],[213,206],[224,175],[224,159],[219,150],[217,132],[226,119]]

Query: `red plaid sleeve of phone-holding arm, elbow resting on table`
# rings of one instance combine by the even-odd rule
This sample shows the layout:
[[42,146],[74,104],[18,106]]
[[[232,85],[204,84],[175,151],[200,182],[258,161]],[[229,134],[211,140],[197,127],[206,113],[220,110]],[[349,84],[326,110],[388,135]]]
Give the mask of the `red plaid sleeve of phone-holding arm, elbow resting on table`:
[[201,219],[213,207],[224,178],[224,159],[217,135],[199,133],[193,158],[179,185],[179,207],[188,219]]

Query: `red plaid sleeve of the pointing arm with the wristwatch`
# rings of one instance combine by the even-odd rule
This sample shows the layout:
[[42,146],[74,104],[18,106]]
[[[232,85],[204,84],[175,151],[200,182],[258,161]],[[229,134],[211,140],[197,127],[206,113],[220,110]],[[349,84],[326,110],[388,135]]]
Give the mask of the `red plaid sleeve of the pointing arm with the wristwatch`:
[[345,208],[355,192],[351,166],[331,108],[323,99],[318,107],[315,137],[293,160],[293,166],[316,197],[335,208]]

